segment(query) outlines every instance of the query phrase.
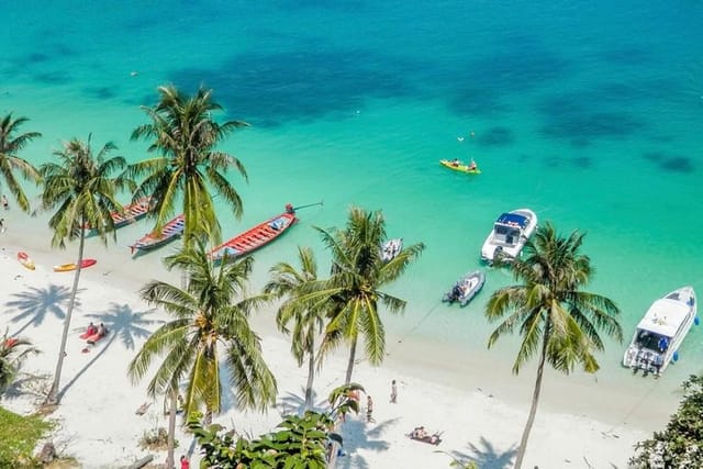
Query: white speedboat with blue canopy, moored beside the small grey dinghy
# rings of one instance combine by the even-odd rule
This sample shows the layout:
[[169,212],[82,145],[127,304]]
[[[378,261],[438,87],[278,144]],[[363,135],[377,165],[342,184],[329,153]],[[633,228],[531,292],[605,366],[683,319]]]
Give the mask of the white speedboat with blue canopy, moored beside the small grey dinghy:
[[498,255],[520,256],[525,243],[537,228],[537,215],[529,209],[502,213],[481,247],[481,259],[493,263]]

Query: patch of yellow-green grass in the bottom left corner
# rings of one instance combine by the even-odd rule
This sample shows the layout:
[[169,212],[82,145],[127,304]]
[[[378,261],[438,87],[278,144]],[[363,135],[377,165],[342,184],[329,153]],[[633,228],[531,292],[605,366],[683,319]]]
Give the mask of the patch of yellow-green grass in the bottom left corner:
[[40,415],[22,416],[0,407],[0,467],[35,466],[35,447],[52,427]]

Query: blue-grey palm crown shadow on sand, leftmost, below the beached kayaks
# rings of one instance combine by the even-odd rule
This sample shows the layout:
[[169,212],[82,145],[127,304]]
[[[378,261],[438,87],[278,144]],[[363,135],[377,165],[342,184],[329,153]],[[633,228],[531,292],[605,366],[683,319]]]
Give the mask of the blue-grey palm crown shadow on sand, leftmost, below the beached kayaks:
[[[78,293],[80,291],[78,290]],[[47,314],[64,320],[66,317],[65,309],[70,300],[70,289],[52,283],[45,289],[32,287],[27,291],[14,293],[12,297],[15,297],[16,300],[8,301],[5,306],[10,308],[10,311],[18,310],[20,313],[10,321],[16,323],[26,320],[23,326],[12,333],[13,336],[16,336],[31,325],[40,326]],[[78,306],[80,306],[80,300],[77,294],[75,308]]]

